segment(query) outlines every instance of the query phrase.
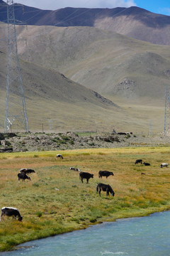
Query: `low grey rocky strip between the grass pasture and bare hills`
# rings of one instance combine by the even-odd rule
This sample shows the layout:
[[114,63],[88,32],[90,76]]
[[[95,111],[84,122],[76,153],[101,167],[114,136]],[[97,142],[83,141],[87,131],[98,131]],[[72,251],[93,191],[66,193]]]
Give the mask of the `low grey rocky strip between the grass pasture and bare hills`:
[[[96,132],[79,134],[30,133],[0,134],[0,152],[12,151],[60,151],[64,149],[114,148],[122,146],[169,145],[170,137],[163,135],[112,134]],[[64,154],[64,152],[63,152]]]

